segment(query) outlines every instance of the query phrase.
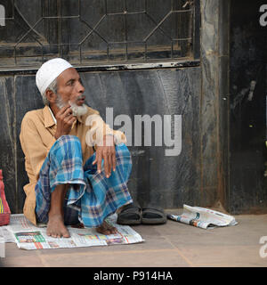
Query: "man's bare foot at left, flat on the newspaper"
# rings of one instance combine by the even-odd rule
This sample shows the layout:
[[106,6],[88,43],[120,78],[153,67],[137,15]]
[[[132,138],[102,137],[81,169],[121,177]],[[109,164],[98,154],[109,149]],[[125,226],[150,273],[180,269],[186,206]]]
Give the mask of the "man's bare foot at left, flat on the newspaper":
[[53,238],[69,238],[69,231],[64,225],[61,215],[49,216],[46,233]]

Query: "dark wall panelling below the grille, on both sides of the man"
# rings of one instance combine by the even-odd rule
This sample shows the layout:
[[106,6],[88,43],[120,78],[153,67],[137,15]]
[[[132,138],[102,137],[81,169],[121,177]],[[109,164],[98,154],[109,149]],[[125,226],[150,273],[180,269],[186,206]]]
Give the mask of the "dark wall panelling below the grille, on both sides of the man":
[[[168,148],[164,142],[163,146],[156,147],[154,139],[151,147],[145,147],[143,143],[140,147],[129,146],[133,154],[129,188],[134,199],[142,205],[148,202],[157,202],[164,208],[182,207],[183,203],[199,205],[200,69],[81,72],[81,77],[86,88],[86,101],[100,110],[104,119],[106,107],[114,108],[114,118],[119,114],[128,115],[133,120],[133,126],[134,115],[137,114],[148,114],[150,117],[158,114],[162,118],[164,115],[182,115],[182,152],[179,156],[166,157]],[[13,78],[14,87],[11,85]],[[1,105],[3,110],[0,114],[2,126],[7,123],[12,126],[7,128],[12,132],[12,142],[6,133],[1,135],[1,167],[7,199],[15,213],[22,211],[25,198],[22,187],[28,183],[19,142],[20,122],[28,110],[42,108],[43,105],[36,89],[35,76],[2,77],[2,82],[8,85],[8,92],[3,86],[0,96],[9,105],[5,104],[4,108]],[[6,94],[13,94],[15,98]],[[12,110],[9,117],[7,110]]]

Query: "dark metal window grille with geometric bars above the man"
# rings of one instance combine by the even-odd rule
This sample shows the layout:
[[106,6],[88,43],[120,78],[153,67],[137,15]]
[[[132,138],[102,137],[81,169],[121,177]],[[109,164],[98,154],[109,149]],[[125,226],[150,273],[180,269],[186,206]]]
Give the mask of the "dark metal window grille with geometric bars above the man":
[[195,59],[196,0],[0,0],[0,69]]

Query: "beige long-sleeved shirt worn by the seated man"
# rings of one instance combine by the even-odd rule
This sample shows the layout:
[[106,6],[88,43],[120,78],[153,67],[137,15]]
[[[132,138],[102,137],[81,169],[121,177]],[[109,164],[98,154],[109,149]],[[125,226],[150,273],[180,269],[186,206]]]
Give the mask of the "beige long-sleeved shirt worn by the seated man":
[[[26,200],[23,213],[33,224],[36,224],[35,186],[44,159],[56,141],[55,132],[56,121],[48,106],[44,109],[28,111],[22,119],[20,143],[25,155],[25,169],[29,180],[29,183],[24,186]],[[101,144],[104,134],[113,134],[116,143],[126,142],[125,134],[110,129],[100,117],[99,112],[90,107],[84,116],[77,117],[69,134],[79,138],[84,164],[93,155],[93,146],[97,147]]]

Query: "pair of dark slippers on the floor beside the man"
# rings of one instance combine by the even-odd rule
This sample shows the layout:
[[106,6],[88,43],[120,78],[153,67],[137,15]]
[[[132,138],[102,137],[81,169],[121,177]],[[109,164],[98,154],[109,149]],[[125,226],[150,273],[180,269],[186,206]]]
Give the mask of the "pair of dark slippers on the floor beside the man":
[[129,204],[117,214],[117,224],[166,224],[166,213],[159,207],[140,208]]

